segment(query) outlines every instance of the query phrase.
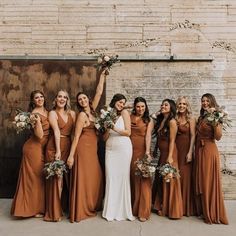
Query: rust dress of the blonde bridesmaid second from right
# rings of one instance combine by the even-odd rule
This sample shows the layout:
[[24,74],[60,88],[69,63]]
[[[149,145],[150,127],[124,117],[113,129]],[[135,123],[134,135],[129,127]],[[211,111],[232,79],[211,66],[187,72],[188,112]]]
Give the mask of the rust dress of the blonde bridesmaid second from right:
[[180,171],[181,192],[183,199],[183,213],[185,216],[194,215],[193,212],[193,187],[192,187],[192,162],[186,162],[190,147],[190,124],[178,125],[176,145],[178,150],[178,164]]

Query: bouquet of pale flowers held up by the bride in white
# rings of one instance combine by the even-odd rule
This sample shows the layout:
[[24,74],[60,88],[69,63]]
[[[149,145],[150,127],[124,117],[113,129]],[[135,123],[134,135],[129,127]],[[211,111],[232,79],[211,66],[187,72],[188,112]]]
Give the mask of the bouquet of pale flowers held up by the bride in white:
[[117,112],[114,108],[105,107],[100,110],[100,115],[95,119],[95,127],[101,133],[104,133],[107,129],[113,128],[117,119]]

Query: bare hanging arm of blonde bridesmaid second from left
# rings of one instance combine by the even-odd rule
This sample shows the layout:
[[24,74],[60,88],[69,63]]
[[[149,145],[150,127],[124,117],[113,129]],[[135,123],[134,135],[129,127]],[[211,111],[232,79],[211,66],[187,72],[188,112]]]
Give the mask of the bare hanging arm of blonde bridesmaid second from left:
[[56,145],[56,154],[55,154],[55,160],[61,159],[61,148],[60,148],[60,136],[61,132],[58,127],[58,117],[55,111],[49,112],[49,124],[53,129],[54,138],[55,138],[55,145]]

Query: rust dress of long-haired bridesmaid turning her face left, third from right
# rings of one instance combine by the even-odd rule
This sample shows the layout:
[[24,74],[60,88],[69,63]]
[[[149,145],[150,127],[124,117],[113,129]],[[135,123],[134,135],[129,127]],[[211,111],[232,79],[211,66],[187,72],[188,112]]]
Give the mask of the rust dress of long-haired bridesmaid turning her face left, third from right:
[[[160,150],[160,159],[158,165],[166,163],[169,153],[169,135],[160,131],[157,137],[157,145]],[[173,163],[178,168],[177,148],[173,151]],[[153,193],[154,209],[161,211],[162,215],[172,219],[179,219],[183,216],[183,202],[181,196],[180,178],[172,178],[170,182],[163,180],[158,174],[154,181],[157,191]]]

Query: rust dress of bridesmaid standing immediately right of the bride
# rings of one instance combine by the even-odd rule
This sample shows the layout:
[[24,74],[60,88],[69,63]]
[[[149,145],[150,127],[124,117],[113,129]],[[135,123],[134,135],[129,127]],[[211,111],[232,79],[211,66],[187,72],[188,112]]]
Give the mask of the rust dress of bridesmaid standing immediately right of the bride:
[[145,155],[145,135],[147,124],[139,119],[136,122],[136,116],[131,115],[131,142],[133,146],[133,156],[131,160],[131,200],[133,215],[139,218],[148,219],[151,214],[151,196],[152,180],[151,178],[142,178],[135,175],[135,161],[142,159]]

